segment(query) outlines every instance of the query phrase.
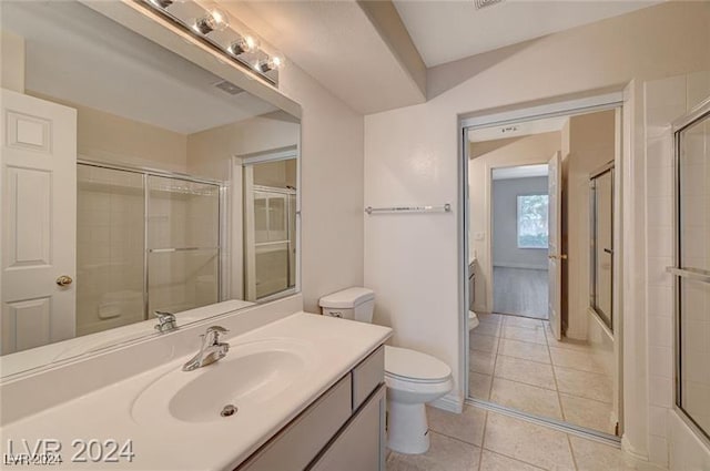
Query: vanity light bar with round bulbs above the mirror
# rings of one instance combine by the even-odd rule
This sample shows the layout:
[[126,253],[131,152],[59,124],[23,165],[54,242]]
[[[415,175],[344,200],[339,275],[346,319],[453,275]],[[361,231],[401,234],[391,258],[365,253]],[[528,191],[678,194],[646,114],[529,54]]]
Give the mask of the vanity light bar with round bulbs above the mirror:
[[[250,70],[272,85],[278,85],[278,69],[285,60],[262,48],[258,38],[215,2],[191,0],[134,0],[211,47],[230,62]],[[206,4],[205,4],[206,3]],[[232,21],[234,20],[234,21]],[[234,24],[236,23],[236,24]],[[220,34],[214,34],[220,32]]]

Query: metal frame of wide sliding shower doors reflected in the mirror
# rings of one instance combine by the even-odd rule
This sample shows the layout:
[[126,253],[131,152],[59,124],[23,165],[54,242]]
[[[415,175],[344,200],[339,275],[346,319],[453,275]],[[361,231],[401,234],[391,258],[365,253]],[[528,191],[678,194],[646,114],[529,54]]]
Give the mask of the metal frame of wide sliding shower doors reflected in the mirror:
[[173,178],[173,180],[182,180],[183,182],[190,183],[199,183],[203,185],[214,185],[217,188],[217,303],[223,300],[224,289],[222,286],[222,280],[224,279],[224,266],[222,264],[222,255],[224,253],[224,245],[227,243],[229,237],[225,237],[223,234],[223,229],[227,226],[225,224],[225,213],[224,208],[226,201],[226,193],[229,191],[229,186],[224,184],[224,182],[220,182],[217,180],[211,178],[202,178],[192,175],[187,175],[180,172],[171,172],[152,167],[143,167],[143,166],[130,166],[118,163],[109,163],[101,161],[93,161],[85,156],[79,155],[77,158],[77,165],[87,165],[98,168],[106,168],[119,172],[130,172],[134,174],[139,174],[143,180],[143,320],[150,319],[149,313],[149,255],[150,249],[148,248],[148,215],[150,209],[150,192],[148,187],[148,178],[150,176],[159,176],[163,178]]

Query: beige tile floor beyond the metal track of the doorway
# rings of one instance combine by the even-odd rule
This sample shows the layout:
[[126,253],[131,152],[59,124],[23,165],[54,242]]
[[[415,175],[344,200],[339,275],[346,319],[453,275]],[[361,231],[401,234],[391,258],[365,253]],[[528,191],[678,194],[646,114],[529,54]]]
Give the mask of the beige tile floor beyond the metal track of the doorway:
[[476,399],[613,433],[612,378],[587,344],[557,341],[539,319],[479,314],[470,332]]

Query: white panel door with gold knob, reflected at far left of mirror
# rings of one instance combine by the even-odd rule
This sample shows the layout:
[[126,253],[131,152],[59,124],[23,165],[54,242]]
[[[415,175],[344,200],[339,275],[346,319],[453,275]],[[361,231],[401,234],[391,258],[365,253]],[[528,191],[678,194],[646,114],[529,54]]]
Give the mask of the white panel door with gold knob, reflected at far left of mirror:
[[4,355],[74,336],[77,111],[0,96]]

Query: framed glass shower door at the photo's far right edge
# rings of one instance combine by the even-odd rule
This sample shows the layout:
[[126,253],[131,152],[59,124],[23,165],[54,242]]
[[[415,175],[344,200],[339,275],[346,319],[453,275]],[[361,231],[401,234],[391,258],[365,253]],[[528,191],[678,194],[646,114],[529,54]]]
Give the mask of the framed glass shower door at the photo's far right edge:
[[710,100],[673,126],[676,407],[710,444]]

